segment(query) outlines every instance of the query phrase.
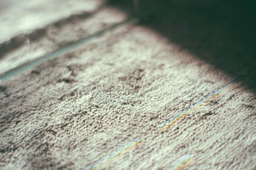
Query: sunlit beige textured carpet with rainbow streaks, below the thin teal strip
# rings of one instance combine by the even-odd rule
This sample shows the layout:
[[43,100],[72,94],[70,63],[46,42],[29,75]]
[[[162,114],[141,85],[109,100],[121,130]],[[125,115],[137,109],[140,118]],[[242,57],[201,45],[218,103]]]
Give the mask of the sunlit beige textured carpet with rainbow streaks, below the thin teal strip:
[[0,167],[254,169],[255,75],[240,73],[122,26],[1,82]]

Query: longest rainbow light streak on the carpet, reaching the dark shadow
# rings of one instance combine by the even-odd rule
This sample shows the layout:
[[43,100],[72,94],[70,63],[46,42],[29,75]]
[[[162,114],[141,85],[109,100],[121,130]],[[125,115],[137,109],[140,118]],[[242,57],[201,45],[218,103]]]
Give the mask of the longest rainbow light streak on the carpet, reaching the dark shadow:
[[221,93],[225,92],[228,89],[233,88],[234,86],[236,86],[240,81],[237,80],[233,83],[228,84],[227,86],[219,89],[216,92],[210,93],[209,95],[207,95],[206,97],[204,97],[200,102],[196,103],[195,105],[190,106],[189,108],[181,111],[179,114],[175,115],[174,117],[172,117],[171,119],[167,120],[165,123],[163,123],[159,130],[163,130],[171,125],[173,125],[176,121],[178,121],[180,118],[182,118],[183,116],[189,114],[190,112],[196,110],[197,108],[203,106],[204,104],[206,104],[211,98],[215,98],[218,97]]

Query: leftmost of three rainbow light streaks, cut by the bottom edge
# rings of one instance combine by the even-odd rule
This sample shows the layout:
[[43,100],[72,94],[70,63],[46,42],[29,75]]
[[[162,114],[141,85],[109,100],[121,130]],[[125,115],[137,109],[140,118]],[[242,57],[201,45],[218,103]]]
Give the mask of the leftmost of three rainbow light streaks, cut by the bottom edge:
[[132,149],[133,147],[139,145],[142,142],[141,139],[139,140],[134,140],[132,143],[128,144],[127,146],[125,146],[124,148],[120,149],[117,152],[114,152],[113,154],[107,156],[106,158],[103,158],[101,160],[99,160],[98,162],[94,163],[93,165],[90,165],[88,167],[86,167],[84,170],[91,170],[91,169],[97,169],[99,168],[101,165],[113,160],[114,158],[120,156],[122,153],[124,153],[125,151]]

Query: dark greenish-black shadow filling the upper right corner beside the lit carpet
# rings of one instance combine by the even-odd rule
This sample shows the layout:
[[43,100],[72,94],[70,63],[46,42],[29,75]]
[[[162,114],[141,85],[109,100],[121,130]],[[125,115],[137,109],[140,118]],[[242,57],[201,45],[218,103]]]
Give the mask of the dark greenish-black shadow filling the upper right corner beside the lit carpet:
[[[242,72],[247,76],[256,72],[256,12],[251,1],[135,0],[132,4],[112,0],[111,3],[126,11],[132,9],[129,12],[137,13],[141,24],[233,77]],[[256,78],[250,77],[247,82],[256,92]]]

